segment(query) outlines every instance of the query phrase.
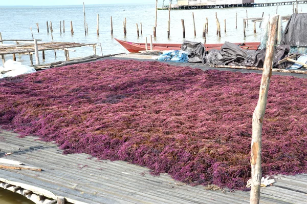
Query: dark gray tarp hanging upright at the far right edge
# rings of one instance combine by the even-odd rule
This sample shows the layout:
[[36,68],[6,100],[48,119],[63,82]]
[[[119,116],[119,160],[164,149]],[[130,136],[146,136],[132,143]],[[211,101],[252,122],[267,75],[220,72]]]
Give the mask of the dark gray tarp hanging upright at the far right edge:
[[307,47],[307,13],[292,14],[284,34],[281,44],[294,47]]

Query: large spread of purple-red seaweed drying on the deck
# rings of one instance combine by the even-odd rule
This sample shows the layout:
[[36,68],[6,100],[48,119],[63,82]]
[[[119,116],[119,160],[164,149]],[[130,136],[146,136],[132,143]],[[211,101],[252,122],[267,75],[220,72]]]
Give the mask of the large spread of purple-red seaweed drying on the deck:
[[[0,123],[65,153],[244,189],[261,75],[104,60],[0,80]],[[272,76],[263,175],[307,173],[307,80]]]

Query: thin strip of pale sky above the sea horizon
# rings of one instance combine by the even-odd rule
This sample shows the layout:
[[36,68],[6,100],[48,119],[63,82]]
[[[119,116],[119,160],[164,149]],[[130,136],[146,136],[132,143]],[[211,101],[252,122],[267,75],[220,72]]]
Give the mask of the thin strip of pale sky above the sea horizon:
[[[168,0],[165,0],[167,2]],[[0,6],[59,6],[59,5],[85,5],[90,4],[144,4],[155,3],[155,0],[14,0],[0,1]],[[158,0],[158,3],[163,3],[163,0]]]

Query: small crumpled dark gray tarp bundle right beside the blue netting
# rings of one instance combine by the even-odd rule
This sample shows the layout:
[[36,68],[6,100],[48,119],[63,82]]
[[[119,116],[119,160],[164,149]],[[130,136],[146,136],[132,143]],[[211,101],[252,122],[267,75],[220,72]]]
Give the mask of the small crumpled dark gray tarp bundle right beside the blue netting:
[[181,45],[181,50],[188,53],[189,63],[204,64],[204,56],[206,54],[206,49],[202,43],[184,40],[183,44]]

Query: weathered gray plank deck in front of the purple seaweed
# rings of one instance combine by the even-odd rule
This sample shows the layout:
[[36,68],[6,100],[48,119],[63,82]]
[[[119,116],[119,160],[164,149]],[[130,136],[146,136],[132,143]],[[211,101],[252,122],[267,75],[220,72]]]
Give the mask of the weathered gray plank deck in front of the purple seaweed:
[[[52,142],[16,136],[7,131],[0,133],[0,157],[43,171],[0,169],[0,184],[25,183],[72,203],[249,203],[250,192],[191,187],[167,174],[151,176],[148,169],[124,161],[97,160],[86,154],[63,155]],[[5,156],[9,152],[13,154]],[[278,175],[276,181],[273,186],[261,188],[260,203],[307,203],[306,174]]]

